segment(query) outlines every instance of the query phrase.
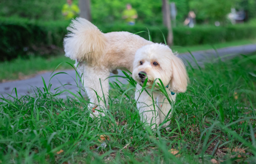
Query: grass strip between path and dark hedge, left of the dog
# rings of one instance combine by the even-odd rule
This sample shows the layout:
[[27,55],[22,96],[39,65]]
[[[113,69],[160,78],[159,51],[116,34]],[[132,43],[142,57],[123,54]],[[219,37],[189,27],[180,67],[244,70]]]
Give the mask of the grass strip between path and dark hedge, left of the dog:
[[[36,75],[40,71],[53,71],[54,68],[61,62],[74,63],[71,59],[64,55],[42,58],[31,57],[29,59],[14,59],[12,61],[5,61],[0,63],[0,82],[7,80],[23,79],[26,76]],[[58,69],[68,69],[68,64],[62,64]]]

